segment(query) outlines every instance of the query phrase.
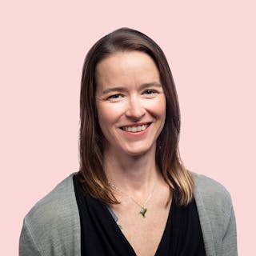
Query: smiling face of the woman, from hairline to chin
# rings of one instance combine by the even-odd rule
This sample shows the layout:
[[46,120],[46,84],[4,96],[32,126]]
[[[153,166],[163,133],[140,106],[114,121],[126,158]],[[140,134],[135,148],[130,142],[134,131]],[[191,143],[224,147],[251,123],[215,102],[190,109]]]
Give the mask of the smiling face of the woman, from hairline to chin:
[[118,52],[96,67],[96,106],[111,154],[155,150],[166,118],[166,97],[158,68],[148,54]]

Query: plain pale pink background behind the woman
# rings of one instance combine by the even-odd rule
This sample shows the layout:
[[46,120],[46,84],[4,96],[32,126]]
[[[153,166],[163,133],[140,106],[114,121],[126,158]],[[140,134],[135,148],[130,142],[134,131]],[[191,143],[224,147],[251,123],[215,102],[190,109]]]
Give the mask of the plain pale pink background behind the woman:
[[182,111],[186,166],[230,191],[240,255],[254,254],[254,1],[6,1],[0,4],[1,255],[22,219],[78,170],[83,59],[122,26],[166,53]]

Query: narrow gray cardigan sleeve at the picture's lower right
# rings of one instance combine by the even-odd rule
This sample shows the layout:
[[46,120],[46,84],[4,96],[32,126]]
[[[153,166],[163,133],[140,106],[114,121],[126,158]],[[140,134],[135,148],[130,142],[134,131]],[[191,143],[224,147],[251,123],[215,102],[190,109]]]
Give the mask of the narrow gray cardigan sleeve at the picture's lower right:
[[226,233],[222,238],[222,256],[237,256],[237,231],[234,217],[234,209],[230,202],[230,219],[226,227]]

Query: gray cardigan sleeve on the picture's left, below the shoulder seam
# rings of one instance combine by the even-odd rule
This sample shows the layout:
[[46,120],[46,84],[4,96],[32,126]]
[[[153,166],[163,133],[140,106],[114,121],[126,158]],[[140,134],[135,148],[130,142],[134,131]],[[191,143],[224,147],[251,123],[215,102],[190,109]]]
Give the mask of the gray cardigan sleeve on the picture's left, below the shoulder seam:
[[19,256],[41,256],[38,246],[26,225],[26,219],[24,219],[22,233],[19,238]]

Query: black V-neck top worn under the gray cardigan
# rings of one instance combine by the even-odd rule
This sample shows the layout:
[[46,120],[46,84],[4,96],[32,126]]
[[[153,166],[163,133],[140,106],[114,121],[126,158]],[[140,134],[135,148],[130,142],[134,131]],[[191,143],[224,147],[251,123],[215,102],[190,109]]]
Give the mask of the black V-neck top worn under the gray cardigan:
[[[73,182],[81,224],[81,255],[136,255],[106,204],[84,194],[76,175]],[[179,206],[175,201],[171,202],[166,227],[155,255],[206,256],[194,199],[188,206]]]

